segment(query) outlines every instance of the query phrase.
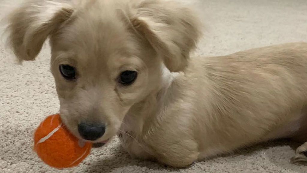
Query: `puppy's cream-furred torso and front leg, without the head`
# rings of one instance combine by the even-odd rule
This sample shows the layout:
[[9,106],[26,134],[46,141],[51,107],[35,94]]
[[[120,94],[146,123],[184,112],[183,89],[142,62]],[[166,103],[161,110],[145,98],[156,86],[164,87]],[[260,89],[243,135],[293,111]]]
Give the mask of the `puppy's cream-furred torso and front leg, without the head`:
[[122,142],[132,155],[144,157],[149,151],[160,161],[181,166],[253,143],[294,137],[307,127],[306,67],[307,43],[191,58],[184,73],[165,75],[164,88],[152,97],[156,104],[142,103],[153,108],[141,106],[145,110],[126,115],[122,130],[137,141],[127,136],[130,143]]

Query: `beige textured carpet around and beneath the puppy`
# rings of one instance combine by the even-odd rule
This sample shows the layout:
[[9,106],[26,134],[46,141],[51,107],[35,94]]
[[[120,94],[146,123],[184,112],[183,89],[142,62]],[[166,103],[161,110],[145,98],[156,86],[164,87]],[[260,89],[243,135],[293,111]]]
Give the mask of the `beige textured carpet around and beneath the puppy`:
[[[0,0],[0,5],[2,2],[4,0]],[[204,11],[202,18],[207,33],[196,54],[223,55],[259,46],[307,41],[306,0],[203,0],[199,7]],[[0,44],[1,173],[307,172],[307,166],[289,163],[294,151],[292,144],[286,141],[258,145],[174,170],[131,159],[118,139],[107,147],[93,149],[79,167],[63,171],[52,169],[41,163],[31,148],[33,129],[46,115],[59,109],[49,57],[46,46],[36,62],[18,66]]]

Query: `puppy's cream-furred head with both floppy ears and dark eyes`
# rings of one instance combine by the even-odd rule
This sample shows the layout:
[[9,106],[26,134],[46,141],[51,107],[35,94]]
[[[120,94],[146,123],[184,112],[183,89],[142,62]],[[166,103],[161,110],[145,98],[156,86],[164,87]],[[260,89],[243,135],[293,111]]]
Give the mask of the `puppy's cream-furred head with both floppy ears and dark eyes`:
[[79,138],[114,136],[135,103],[161,87],[162,67],[184,70],[199,38],[190,9],[168,0],[31,0],[9,18],[19,61],[50,38],[63,122]]

